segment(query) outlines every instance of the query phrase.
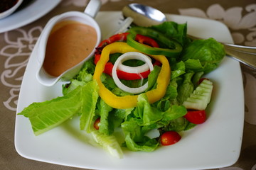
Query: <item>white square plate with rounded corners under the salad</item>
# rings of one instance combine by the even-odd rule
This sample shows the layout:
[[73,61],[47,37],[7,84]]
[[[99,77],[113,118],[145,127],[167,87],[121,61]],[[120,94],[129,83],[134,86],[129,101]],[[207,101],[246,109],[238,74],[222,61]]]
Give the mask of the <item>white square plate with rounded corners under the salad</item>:
[[[213,37],[233,42],[228,28],[218,21],[188,16],[167,15],[169,20],[188,23],[188,33],[201,38]],[[100,12],[96,20],[105,37],[119,26],[121,12]],[[17,113],[33,102],[61,96],[61,83],[53,87],[36,81],[37,45],[33,49],[23,77]],[[244,96],[240,64],[225,57],[218,69],[207,75],[214,83],[208,106],[208,120],[182,134],[175,145],[154,152],[129,152],[123,159],[111,157],[105,150],[89,145],[77,119],[69,120],[48,132],[33,135],[28,118],[16,116],[15,147],[28,159],[87,169],[213,169],[234,164],[242,142]]]

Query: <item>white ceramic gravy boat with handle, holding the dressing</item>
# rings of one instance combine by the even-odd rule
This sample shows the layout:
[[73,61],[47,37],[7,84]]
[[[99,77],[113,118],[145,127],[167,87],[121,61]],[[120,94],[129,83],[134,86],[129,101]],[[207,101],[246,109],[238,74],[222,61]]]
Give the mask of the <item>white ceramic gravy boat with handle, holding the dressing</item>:
[[[84,13],[79,11],[69,11],[66,13],[62,13],[58,16],[54,16],[53,18],[50,19],[50,21],[48,21],[48,23],[46,24],[46,27],[43,29],[41,33],[41,36],[38,42],[38,62],[40,64],[40,67],[38,67],[38,70],[36,72],[36,79],[41,84],[43,84],[44,86],[53,86],[60,79],[62,79],[63,81],[69,81],[75,76],[75,74],[77,74],[80,71],[82,64],[87,60],[89,60],[90,57],[94,55],[95,47],[97,47],[97,45],[100,43],[100,40],[101,40],[100,26],[97,24],[97,22],[94,19],[97,12],[100,9],[100,6],[101,6],[100,0],[90,0],[90,3],[85,8]],[[95,28],[97,33],[97,43],[94,47],[94,50],[92,50],[92,52],[90,52],[90,55],[85,57],[85,59],[82,60],[82,62],[66,70],[65,72],[60,74],[59,77],[53,77],[43,69],[43,62],[45,60],[46,45],[47,45],[50,32],[55,26],[55,24],[59,23],[60,21],[78,21],[80,23],[85,23],[88,26],[92,26],[92,28]]]

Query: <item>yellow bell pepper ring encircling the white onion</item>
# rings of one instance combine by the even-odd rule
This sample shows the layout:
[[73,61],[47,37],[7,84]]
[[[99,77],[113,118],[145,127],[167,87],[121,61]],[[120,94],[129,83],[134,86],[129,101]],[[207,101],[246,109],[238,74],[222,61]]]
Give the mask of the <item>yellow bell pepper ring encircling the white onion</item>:
[[[97,62],[95,67],[95,73],[93,75],[93,79],[97,81],[99,86],[99,96],[102,98],[107,105],[112,108],[134,108],[137,106],[137,98],[139,95],[127,95],[127,96],[116,96],[109,89],[102,84],[100,80],[100,76],[105,69],[105,64],[110,59],[110,54],[113,53],[125,53],[125,52],[139,52],[133,47],[127,45],[126,42],[114,42],[110,45],[107,45],[102,50],[102,55],[100,57],[99,62]],[[147,91],[145,94],[149,100],[149,103],[154,103],[159,101],[166,94],[167,86],[169,85],[169,81],[171,79],[171,68],[168,60],[164,55],[149,55],[161,62],[161,71],[159,72],[159,77],[156,80],[156,89],[151,91]]]

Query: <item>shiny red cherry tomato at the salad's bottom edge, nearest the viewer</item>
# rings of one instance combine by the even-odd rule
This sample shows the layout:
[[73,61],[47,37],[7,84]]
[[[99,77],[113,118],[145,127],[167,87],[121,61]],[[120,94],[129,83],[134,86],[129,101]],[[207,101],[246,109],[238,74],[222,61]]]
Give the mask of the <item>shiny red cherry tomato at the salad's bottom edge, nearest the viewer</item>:
[[178,132],[175,131],[164,132],[160,137],[161,145],[164,146],[173,145],[179,140],[181,140],[181,135],[179,135]]

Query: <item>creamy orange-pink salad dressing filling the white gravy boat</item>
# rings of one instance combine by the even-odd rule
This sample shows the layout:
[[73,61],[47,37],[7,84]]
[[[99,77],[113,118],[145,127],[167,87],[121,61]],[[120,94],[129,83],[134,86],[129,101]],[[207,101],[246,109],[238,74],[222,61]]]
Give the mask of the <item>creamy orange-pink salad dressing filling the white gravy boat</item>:
[[97,33],[91,26],[76,21],[61,21],[50,33],[43,68],[53,77],[75,66],[92,52]]

